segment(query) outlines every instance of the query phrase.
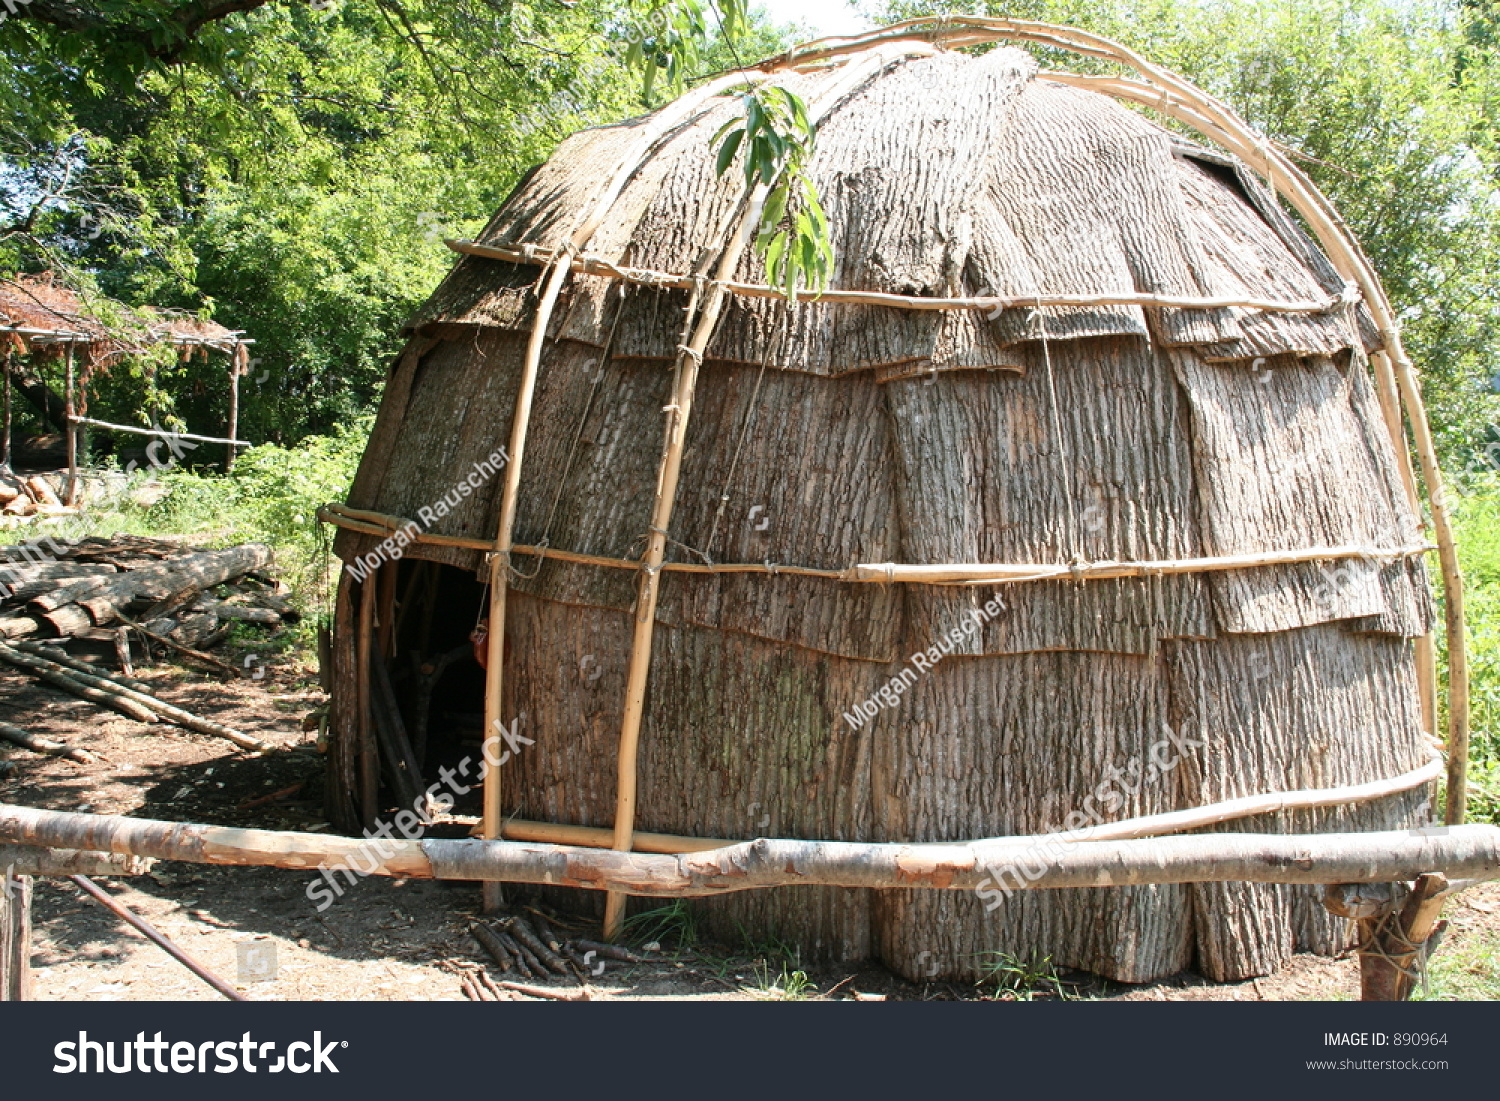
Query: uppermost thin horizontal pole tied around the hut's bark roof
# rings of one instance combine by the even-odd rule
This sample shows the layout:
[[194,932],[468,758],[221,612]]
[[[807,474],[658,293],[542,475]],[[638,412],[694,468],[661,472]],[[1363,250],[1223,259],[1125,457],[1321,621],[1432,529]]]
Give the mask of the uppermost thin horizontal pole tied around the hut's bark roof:
[[[448,240],[446,244],[454,252],[486,260],[504,260],[512,264],[550,264],[556,255],[555,249],[525,246],[525,244],[480,244],[470,240]],[[692,290],[693,276],[675,272],[657,272],[644,267],[622,267],[603,256],[579,255],[573,258],[573,272],[579,274],[598,276],[602,279],[618,279],[642,286],[664,286],[672,290]],[[734,280],[714,280],[711,286],[720,286],[729,294],[746,298],[786,298],[786,291],[765,284],[741,284]],[[1088,308],[1088,306],[1142,306],[1152,309],[1258,309],[1268,314],[1328,314],[1356,300],[1356,286],[1350,286],[1344,296],[1329,296],[1326,298],[1280,300],[1280,298],[1250,298],[1250,297],[1204,297],[1182,294],[1148,294],[1142,291],[1119,291],[1114,294],[1010,294],[1010,296],[970,296],[958,298],[933,298],[918,294],[888,294],[885,291],[838,291],[826,290],[804,292],[798,296],[798,303],[819,303],[836,306],[886,306],[891,309],[1028,309],[1028,308]]]

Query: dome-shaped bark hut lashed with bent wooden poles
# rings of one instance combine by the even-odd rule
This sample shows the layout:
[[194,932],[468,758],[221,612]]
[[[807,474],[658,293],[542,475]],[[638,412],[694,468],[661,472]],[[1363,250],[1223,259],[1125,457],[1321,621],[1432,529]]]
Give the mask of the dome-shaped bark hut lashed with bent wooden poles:
[[[1426,429],[1378,285],[1212,100],[1144,63],[950,48],[999,38],[1138,60],[1004,21],[814,44],[574,135],[453,243],[324,513],[345,528],[345,826],[501,728],[486,802],[458,806],[489,837],[1071,831],[1036,843],[1046,864],[1089,837],[1430,820],[1398,382]],[[766,286],[756,195],[714,166],[735,87],[768,78],[816,123],[836,250],[816,300]],[[1334,226],[1323,248],[1276,190]],[[909,976],[1005,952],[1238,978],[1348,944],[1308,886],[992,873],[690,904]]]

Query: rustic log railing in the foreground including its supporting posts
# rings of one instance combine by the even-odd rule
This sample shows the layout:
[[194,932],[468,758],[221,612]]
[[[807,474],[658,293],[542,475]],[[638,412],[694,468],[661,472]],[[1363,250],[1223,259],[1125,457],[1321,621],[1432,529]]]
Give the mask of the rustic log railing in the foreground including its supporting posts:
[[[676,898],[774,886],[927,888],[974,891],[990,908],[1028,890],[1323,884],[1324,906],[1359,922],[1364,1000],[1408,998],[1426,952],[1442,934],[1437,915],[1443,902],[1500,878],[1500,826],[1490,825],[1065,840],[1046,836],[900,844],[762,838],[698,852],[648,854],[483,838],[328,837],[0,804],[0,862],[10,861],[0,870],[0,884],[8,888],[0,897],[0,1000],[28,996],[24,957],[30,882],[10,876],[18,864],[40,874],[80,868],[130,874],[148,866],[141,858],[150,858]],[[1406,886],[1413,882],[1413,888]],[[8,906],[12,894],[20,900]]]

